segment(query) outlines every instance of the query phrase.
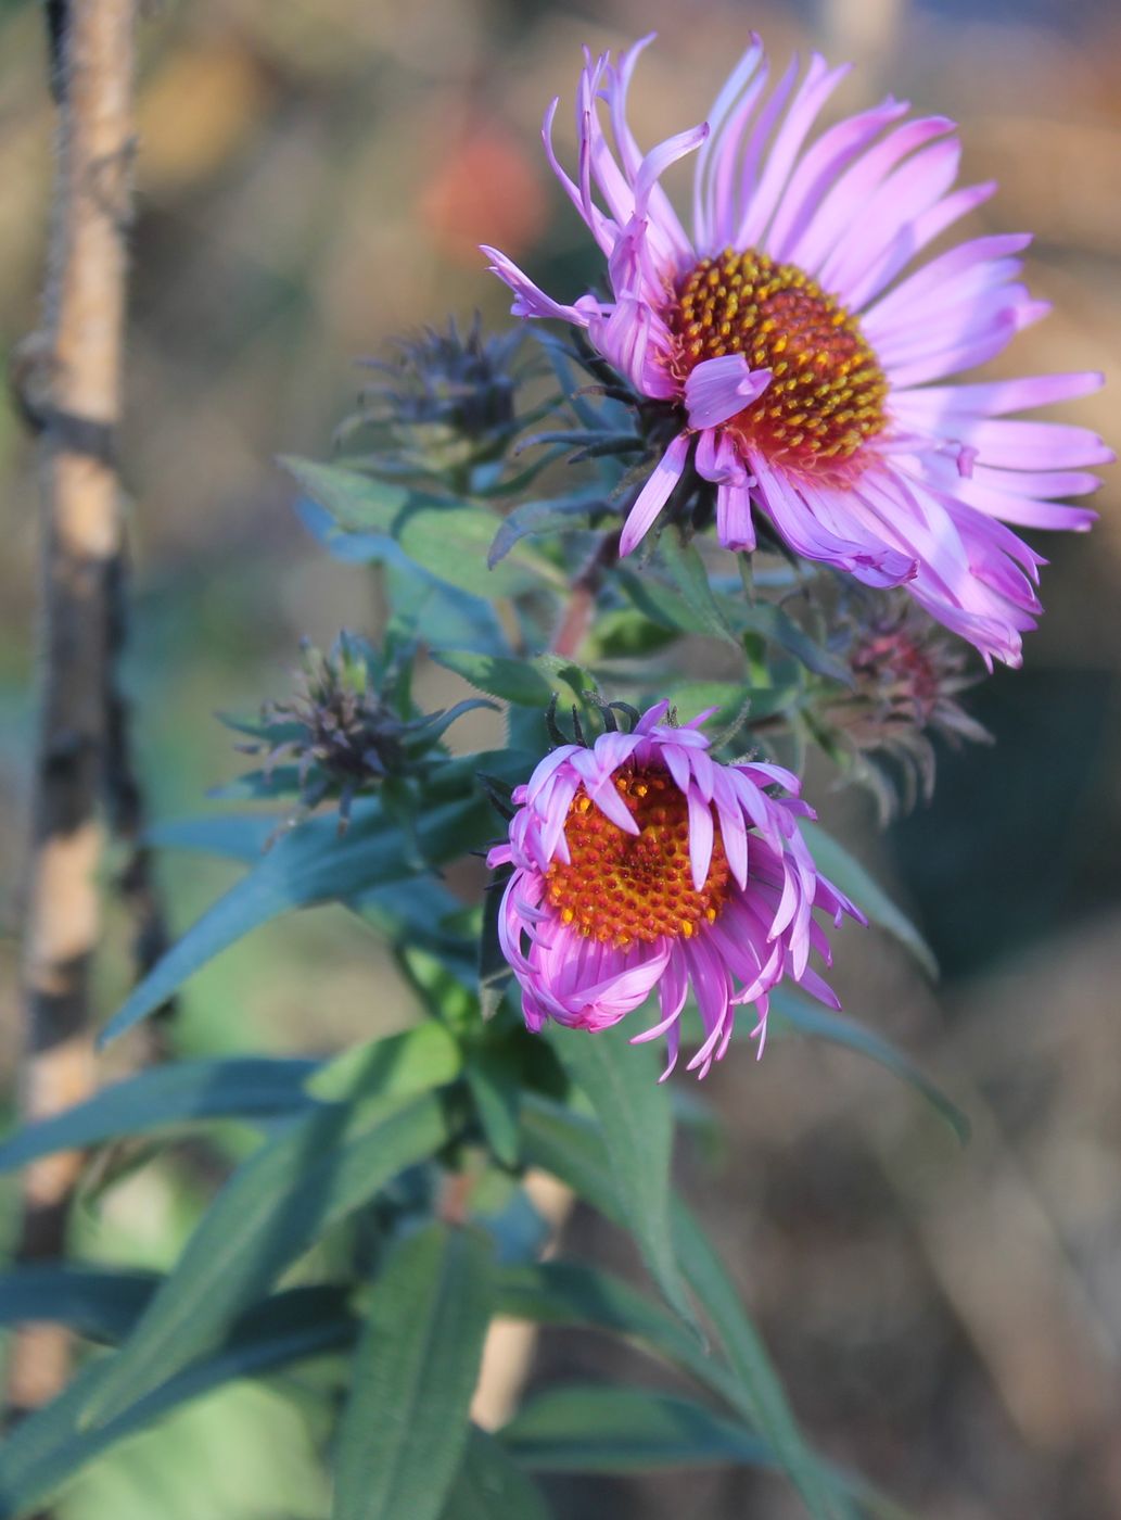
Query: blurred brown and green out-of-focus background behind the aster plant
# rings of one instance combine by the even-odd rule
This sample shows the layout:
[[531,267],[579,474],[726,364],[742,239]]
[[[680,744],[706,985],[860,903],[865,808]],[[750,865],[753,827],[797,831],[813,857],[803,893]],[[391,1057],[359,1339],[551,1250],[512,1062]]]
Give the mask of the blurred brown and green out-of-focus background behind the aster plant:
[[[580,46],[658,29],[632,120],[650,143],[700,120],[756,27],[858,68],[831,111],[889,90],[962,122],[966,182],[1001,193],[977,231],[1036,233],[1028,278],[1056,310],[995,372],[1115,366],[1121,351],[1121,11],[1110,0],[193,0],[141,23],[123,470],[135,605],[128,687],[155,818],[199,812],[242,769],[219,708],[287,690],[302,634],[375,626],[368,573],[292,512],[278,453],[324,456],[393,333],[506,327],[475,245],[559,293],[594,272],[538,126]],[[43,17],[0,0],[0,351],[35,328],[52,173]],[[568,116],[560,112],[562,141]],[[1065,415],[1110,435],[1116,389]],[[1109,471],[1107,471],[1109,473]],[[1091,538],[1042,544],[1048,614],[1025,669],[971,695],[990,751],[943,755],[931,809],[881,834],[870,804],[811,795],[890,882],[943,968],[927,985],[884,936],[842,935],[846,1008],[920,1056],[974,1120],[962,1151],[878,1069],[776,1041],[703,1091],[723,1116],[682,1178],[758,1313],[799,1414],[835,1459],[937,1520],[1121,1515],[1121,503]],[[20,1044],[35,450],[0,398],[0,1073]],[[1036,541],[1044,535],[1036,535]],[[445,696],[448,676],[433,676]],[[466,725],[465,725],[466,728]],[[465,736],[469,737],[469,736]],[[109,869],[112,862],[109,862]],[[161,860],[173,927],[225,868]],[[126,961],[111,921],[102,1011]],[[258,932],[185,990],[181,1052],[327,1050],[410,1009],[342,909]],[[128,1053],[125,1056],[128,1059]],[[91,1257],[164,1265],[197,1166],[134,1158],[79,1208]],[[11,1211],[11,1193],[5,1195]],[[582,1249],[615,1259],[576,1218]],[[548,1336],[535,1379],[635,1359]],[[67,1517],[249,1520],[325,1512],[324,1432],[292,1380],[235,1388],[144,1436],[68,1496]],[[169,1456],[169,1453],[172,1453]],[[205,1456],[205,1461],[202,1458]],[[190,1479],[190,1480],[187,1480]],[[210,1485],[201,1491],[199,1484]],[[781,1484],[705,1471],[557,1480],[557,1515],[784,1520]],[[187,1497],[190,1496],[190,1497]],[[403,1517],[407,1520],[407,1517]]]

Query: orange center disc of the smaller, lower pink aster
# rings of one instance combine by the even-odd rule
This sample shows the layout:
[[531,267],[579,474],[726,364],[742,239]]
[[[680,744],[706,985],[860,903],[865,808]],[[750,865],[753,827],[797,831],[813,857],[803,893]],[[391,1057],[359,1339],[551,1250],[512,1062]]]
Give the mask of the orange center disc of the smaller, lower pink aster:
[[615,775],[615,790],[638,834],[605,818],[580,787],[565,821],[571,860],[550,865],[545,901],[564,923],[603,944],[691,938],[715,920],[731,888],[718,821],[714,816],[712,860],[697,891],[688,803],[673,778],[656,768],[627,765]]

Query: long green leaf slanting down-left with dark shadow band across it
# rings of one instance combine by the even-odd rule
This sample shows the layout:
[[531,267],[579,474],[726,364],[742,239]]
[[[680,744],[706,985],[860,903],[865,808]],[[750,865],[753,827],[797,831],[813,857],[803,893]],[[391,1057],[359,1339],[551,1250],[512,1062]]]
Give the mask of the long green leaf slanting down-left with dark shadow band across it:
[[106,1424],[210,1350],[334,1221],[448,1137],[437,1097],[334,1104],[293,1120],[229,1178],[91,1398]]

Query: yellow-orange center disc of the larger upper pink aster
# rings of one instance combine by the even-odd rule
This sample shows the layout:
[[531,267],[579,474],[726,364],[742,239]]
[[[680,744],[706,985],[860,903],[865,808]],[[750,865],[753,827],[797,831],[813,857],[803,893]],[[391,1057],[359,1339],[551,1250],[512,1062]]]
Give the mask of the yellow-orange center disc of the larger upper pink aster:
[[884,427],[887,380],[857,318],[796,264],[750,248],[702,258],[677,281],[667,319],[682,382],[725,354],[772,371],[763,395],[723,424],[767,459],[828,471]]

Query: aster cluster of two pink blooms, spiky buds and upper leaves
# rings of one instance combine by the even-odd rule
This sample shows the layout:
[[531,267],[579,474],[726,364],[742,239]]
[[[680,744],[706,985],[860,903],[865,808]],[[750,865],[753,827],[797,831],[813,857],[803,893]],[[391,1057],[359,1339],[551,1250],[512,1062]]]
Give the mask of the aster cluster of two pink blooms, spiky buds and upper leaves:
[[[1019,278],[1024,236],[924,261],[993,190],[955,187],[951,122],[908,119],[889,97],[814,135],[846,70],[814,55],[772,79],[752,38],[708,119],[643,149],[627,96],[649,41],[585,55],[574,173],[553,146],[557,100],[544,120],[602,286],[565,302],[485,249],[515,315],[567,325],[568,344],[541,345],[559,394],[519,413],[533,368],[519,333],[433,330],[381,366],[345,429],[345,468],[298,476],[386,565],[412,652],[425,640],[509,704],[509,758],[475,780],[507,822],[488,851],[501,906],[486,935],[524,1023],[602,1031],[635,1015],[635,1041],[665,1038],[668,1075],[691,1000],[688,1069],[703,1076],[741,1008],[763,1052],[779,982],[837,1006],[811,958],[829,962],[828,918],[863,915],[800,827],[814,816],[807,745],[867,784],[884,819],[930,800],[934,740],[987,737],[962,693],[981,664],[1021,661],[1040,610],[1044,561],[1013,527],[1089,527],[1094,514],[1062,499],[1098,483],[1089,467],[1109,450],[1083,427],[1012,416],[1094,391],[1097,374],[960,378],[1047,307]],[[685,158],[688,217],[662,182]],[[554,412],[560,426],[524,436]],[[369,456],[349,448],[358,424]],[[545,454],[510,479],[518,439]],[[518,502],[571,447],[580,485]],[[702,552],[709,529],[715,553]],[[741,576],[718,568],[720,549]],[[504,622],[489,605],[501,597]],[[682,684],[668,649],[684,634],[740,661],[738,679],[715,682],[711,733],[712,696],[684,725],[656,701]],[[574,663],[585,651],[597,669]],[[358,790],[419,775],[428,734],[363,676],[369,661],[357,684],[352,664],[346,649],[321,660],[307,699],[270,717],[305,807],[334,790],[343,815]],[[551,710],[542,724],[562,687],[576,742]],[[608,724],[591,743],[580,708]],[[740,727],[749,758],[731,752]]]

